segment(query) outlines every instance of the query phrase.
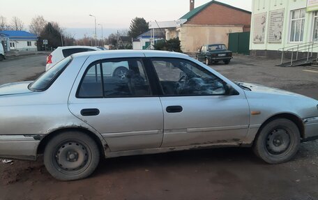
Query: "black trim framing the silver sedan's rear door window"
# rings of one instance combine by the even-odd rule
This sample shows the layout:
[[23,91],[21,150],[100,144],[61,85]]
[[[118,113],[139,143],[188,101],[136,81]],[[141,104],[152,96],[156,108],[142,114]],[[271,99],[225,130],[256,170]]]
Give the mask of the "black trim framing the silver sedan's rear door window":
[[[146,75],[146,78],[148,79],[148,82],[149,82],[149,89],[150,89],[150,94],[149,95],[129,95],[129,96],[119,96],[119,95],[114,95],[114,96],[111,96],[111,95],[107,95],[105,96],[105,90],[104,90],[104,78],[103,78],[103,66],[102,66],[102,63],[103,62],[107,62],[107,61],[116,61],[116,60],[119,60],[119,61],[123,61],[123,60],[131,60],[131,59],[135,59],[136,61],[140,61],[142,63],[142,68],[144,69],[144,73]],[[101,75],[101,80],[102,80],[102,90],[103,90],[103,97],[80,97],[79,96],[79,89],[80,89],[80,86],[82,86],[82,82],[84,80],[84,77],[87,73],[87,71],[89,70],[89,68],[91,68],[91,66],[95,65],[96,63],[99,63],[100,64],[100,75]],[[151,78],[150,78],[150,75],[149,75],[149,70],[147,70],[146,66],[145,66],[145,61],[144,61],[144,57],[123,57],[123,58],[110,58],[110,59],[99,59],[99,60],[96,60],[96,61],[93,61],[92,63],[90,63],[82,77],[81,77],[81,80],[77,86],[77,90],[76,90],[76,94],[75,94],[75,98],[77,99],[93,99],[93,98],[98,98],[98,99],[105,99],[105,98],[153,98],[153,97],[158,97],[158,95],[154,95],[154,92],[155,90],[153,90],[153,85],[151,84]],[[156,87],[156,86],[155,86]]]

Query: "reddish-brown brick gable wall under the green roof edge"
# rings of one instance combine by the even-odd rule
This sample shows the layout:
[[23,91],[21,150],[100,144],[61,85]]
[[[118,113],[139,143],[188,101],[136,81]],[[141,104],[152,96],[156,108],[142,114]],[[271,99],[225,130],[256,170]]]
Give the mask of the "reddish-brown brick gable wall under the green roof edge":
[[192,17],[186,24],[228,24],[228,25],[244,25],[250,27],[251,14],[240,10],[212,3],[199,14]]

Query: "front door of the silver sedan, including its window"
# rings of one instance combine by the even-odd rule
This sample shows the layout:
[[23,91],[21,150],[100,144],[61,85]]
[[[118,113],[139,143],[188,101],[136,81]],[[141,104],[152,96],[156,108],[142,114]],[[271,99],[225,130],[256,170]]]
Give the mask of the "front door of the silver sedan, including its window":
[[245,95],[202,66],[185,59],[153,58],[163,95],[162,147],[239,144],[248,132]]

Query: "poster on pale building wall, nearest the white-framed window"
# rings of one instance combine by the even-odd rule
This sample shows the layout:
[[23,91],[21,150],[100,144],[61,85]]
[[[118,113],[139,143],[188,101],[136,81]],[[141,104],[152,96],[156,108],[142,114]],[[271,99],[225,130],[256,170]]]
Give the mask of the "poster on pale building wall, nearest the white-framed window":
[[282,26],[285,9],[272,10],[269,13],[268,43],[282,43]]

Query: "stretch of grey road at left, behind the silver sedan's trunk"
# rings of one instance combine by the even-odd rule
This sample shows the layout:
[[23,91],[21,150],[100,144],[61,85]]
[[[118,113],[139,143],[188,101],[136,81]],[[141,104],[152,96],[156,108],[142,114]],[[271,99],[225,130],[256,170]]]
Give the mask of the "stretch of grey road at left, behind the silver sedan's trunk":
[[45,70],[46,55],[19,56],[0,62],[0,85],[19,82]]

